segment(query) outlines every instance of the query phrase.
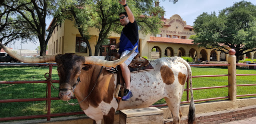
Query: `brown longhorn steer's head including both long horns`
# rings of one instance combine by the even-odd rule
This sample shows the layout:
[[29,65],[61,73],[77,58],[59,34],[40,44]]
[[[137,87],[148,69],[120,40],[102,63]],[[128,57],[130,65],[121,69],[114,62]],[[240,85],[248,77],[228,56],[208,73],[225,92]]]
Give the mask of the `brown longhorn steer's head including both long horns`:
[[47,55],[40,57],[27,58],[16,54],[9,48],[4,46],[0,42],[0,47],[4,49],[11,57],[24,63],[43,63],[43,62],[56,62],[57,72],[59,76],[59,98],[66,101],[73,97],[73,86],[76,84],[78,77],[80,75],[81,69],[85,66],[94,64],[105,67],[112,67],[123,63],[136,49],[127,54],[126,56],[115,60],[115,61],[105,61],[88,56],[77,56],[74,53],[58,54],[58,55]]

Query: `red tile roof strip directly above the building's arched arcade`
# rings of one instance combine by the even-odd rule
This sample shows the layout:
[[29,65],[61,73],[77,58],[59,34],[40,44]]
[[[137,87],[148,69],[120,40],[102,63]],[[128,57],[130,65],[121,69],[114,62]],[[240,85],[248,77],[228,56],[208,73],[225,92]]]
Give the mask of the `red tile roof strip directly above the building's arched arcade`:
[[179,43],[179,44],[193,44],[193,40],[190,39],[179,39],[179,38],[168,38],[168,37],[152,37],[147,42],[161,42],[161,43]]

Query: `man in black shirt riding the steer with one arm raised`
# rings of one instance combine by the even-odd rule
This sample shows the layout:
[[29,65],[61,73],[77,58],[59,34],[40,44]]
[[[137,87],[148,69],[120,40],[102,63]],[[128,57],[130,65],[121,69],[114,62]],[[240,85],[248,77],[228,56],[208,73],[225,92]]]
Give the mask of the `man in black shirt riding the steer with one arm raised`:
[[[138,45],[138,26],[137,22],[134,19],[134,16],[126,4],[126,0],[119,1],[120,4],[123,5],[126,12],[119,13],[119,20],[122,26],[122,32],[120,36],[120,42],[115,45],[110,45],[110,49],[119,48],[118,52],[121,54],[120,57],[125,56],[132,50],[135,46]],[[132,97],[132,93],[130,91],[130,70],[128,65],[131,60],[137,55],[138,48],[132,53],[132,55],[120,64],[120,68],[122,71],[122,76],[124,79],[125,87],[124,96],[122,97],[122,101],[127,101]]]

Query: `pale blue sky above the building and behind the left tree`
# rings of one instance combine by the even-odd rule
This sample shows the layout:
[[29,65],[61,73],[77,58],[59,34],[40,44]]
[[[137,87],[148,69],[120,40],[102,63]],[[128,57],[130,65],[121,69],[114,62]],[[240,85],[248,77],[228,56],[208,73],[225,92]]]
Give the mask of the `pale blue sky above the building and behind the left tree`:
[[[234,2],[242,0],[178,0],[175,4],[169,2],[169,0],[159,0],[160,6],[164,7],[165,15],[164,18],[170,18],[173,14],[178,14],[182,20],[186,21],[186,24],[193,25],[194,19],[199,16],[202,12],[210,13],[215,11],[218,14],[219,10],[226,7],[232,6]],[[256,5],[256,0],[246,0]],[[46,20],[46,28],[48,27],[50,19]],[[20,49],[20,43],[15,43],[15,49]],[[34,50],[39,46],[39,41],[36,44],[27,43],[22,45],[22,49]],[[14,47],[11,45],[10,47]]]

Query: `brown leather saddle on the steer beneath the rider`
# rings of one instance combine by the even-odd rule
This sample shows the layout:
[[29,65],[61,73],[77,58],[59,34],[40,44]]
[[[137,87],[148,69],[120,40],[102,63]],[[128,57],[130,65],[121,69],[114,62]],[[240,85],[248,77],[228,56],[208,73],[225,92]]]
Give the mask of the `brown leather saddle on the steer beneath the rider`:
[[[109,61],[117,60],[120,58],[120,54],[118,52],[112,52],[111,56],[108,56],[106,58]],[[116,82],[116,89],[114,97],[116,98],[116,101],[119,103],[121,100],[121,97],[123,96],[124,91],[124,79],[122,77],[121,68],[120,66],[116,66],[117,68],[117,82]],[[132,59],[130,64],[128,65],[128,68],[130,69],[130,72],[137,72],[142,70],[149,70],[153,69],[152,65],[149,63],[149,61],[143,57],[140,57],[140,54],[137,53],[137,55]],[[119,92],[121,91],[121,92]]]

